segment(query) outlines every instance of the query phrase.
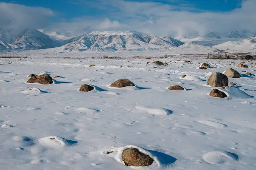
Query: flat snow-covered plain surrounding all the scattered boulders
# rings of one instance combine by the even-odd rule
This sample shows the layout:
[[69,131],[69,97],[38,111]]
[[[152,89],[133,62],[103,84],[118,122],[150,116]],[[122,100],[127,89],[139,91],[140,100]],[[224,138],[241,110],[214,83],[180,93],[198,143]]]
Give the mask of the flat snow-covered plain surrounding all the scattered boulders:
[[[169,65],[153,68],[154,59],[34,57],[0,59],[1,170],[130,170],[120,157],[127,145],[154,158],[141,170],[256,169],[256,79],[241,73],[256,73],[251,62],[158,58]],[[202,62],[212,68],[197,69]],[[237,86],[227,99],[210,97],[206,80],[229,67],[242,74],[229,78]],[[29,74],[61,78],[26,84]],[[108,88],[121,78],[137,86]],[[97,88],[79,92],[82,84]]]

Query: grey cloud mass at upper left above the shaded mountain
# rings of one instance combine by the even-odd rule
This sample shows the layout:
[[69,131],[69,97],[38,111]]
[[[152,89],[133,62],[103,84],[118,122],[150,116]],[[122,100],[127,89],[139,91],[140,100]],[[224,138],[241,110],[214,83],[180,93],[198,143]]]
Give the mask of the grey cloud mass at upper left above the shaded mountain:
[[40,28],[46,26],[53,15],[53,11],[48,8],[0,3],[0,28]]

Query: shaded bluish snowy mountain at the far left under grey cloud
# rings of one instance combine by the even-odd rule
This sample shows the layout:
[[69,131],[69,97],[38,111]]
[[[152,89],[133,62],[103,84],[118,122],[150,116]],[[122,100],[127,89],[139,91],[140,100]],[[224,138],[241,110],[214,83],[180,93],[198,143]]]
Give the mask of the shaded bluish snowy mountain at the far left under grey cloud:
[[0,49],[45,49],[58,47],[48,35],[35,29],[23,31],[0,30]]

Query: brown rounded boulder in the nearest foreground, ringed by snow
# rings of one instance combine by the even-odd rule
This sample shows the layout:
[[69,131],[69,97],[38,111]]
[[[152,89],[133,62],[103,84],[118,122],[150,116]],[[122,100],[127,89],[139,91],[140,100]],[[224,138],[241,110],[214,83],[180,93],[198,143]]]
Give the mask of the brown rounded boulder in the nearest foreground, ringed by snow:
[[137,148],[128,148],[122,152],[122,160],[127,166],[149,166],[153,164],[154,159],[149,155],[141,153]]

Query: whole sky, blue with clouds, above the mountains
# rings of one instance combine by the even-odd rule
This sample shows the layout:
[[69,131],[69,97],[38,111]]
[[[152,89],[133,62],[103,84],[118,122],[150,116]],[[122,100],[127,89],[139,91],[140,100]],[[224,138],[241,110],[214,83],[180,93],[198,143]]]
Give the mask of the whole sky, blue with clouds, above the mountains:
[[1,0],[0,28],[154,35],[256,31],[255,6],[256,0]]

